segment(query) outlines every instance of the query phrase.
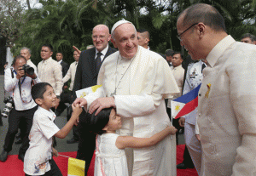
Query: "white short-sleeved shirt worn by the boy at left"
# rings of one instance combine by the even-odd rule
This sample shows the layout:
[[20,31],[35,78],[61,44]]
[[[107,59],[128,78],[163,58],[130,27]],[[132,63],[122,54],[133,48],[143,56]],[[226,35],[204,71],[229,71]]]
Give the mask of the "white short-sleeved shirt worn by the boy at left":
[[55,113],[38,107],[29,133],[29,148],[24,157],[24,172],[29,175],[43,175],[50,170],[52,137],[60,129],[55,125]]

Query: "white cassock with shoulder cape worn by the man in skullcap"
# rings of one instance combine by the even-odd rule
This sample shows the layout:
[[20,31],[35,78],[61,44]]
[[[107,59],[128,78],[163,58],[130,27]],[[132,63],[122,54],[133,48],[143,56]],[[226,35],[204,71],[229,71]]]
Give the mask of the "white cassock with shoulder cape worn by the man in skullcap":
[[[115,52],[103,62],[97,84],[102,89],[85,97],[87,108],[96,98],[114,94],[117,114],[123,117],[120,135],[148,138],[172,125],[164,99],[179,90],[160,54],[138,47],[135,57],[125,60]],[[153,147],[134,149],[133,158],[132,175],[176,175],[175,135]]]

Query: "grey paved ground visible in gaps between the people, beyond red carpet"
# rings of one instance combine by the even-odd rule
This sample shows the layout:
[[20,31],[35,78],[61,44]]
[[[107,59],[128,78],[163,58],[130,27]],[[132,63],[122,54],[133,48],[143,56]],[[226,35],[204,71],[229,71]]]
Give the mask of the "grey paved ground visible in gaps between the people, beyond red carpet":
[[[4,99],[4,90],[3,90],[3,76],[0,75],[0,109],[3,111],[4,104],[3,104],[3,99]],[[56,117],[55,119],[55,124],[59,127],[62,128],[66,123],[67,123],[67,118],[66,118],[67,111],[64,111],[61,116]],[[0,152],[3,150],[3,144],[4,144],[4,139],[5,135],[8,130],[8,119],[3,118],[3,127],[0,127]],[[76,151],[78,149],[78,144],[67,144],[67,139],[71,139],[73,136],[73,132],[70,132],[66,139],[56,139],[57,140],[57,146],[55,147],[56,150],[63,152],[63,151]],[[182,145],[184,144],[184,139],[183,139],[183,134],[179,135],[179,144]],[[9,155],[17,155],[20,149],[20,145],[13,145],[13,150],[9,153]]]

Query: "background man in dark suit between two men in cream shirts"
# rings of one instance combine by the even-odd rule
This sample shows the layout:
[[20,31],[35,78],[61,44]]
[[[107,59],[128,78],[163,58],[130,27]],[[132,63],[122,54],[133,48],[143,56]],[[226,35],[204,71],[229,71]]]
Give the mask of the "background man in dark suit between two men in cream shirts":
[[[67,64],[67,62],[63,61],[63,54],[61,52],[58,52],[56,54],[56,60],[62,67],[61,71],[62,71],[62,78],[63,78],[67,74],[67,71],[69,69],[69,65]],[[63,90],[62,90],[62,93],[61,93],[61,97],[63,97],[64,94],[66,93],[65,89],[67,89],[67,82],[64,83],[64,86],[63,86],[62,89]],[[61,113],[67,108],[67,105],[65,105],[65,103],[67,103],[67,102],[64,102],[63,99],[60,101],[60,104],[58,105],[57,109],[55,110],[55,115],[56,116],[61,116]]]

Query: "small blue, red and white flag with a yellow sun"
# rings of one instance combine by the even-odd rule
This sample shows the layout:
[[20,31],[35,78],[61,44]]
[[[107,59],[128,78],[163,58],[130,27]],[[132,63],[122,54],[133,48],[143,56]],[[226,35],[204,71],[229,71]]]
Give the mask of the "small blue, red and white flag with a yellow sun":
[[172,100],[172,118],[177,119],[195,110],[198,106],[198,92],[200,87],[201,84],[189,93]]

